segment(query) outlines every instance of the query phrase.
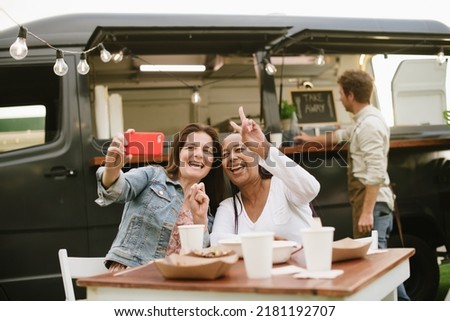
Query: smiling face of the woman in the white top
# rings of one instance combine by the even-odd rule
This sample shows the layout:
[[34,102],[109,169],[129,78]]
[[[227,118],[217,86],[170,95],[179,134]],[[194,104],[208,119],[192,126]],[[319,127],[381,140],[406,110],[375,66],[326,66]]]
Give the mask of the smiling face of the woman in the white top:
[[222,167],[236,186],[258,177],[258,157],[242,143],[241,135],[231,134],[222,142]]

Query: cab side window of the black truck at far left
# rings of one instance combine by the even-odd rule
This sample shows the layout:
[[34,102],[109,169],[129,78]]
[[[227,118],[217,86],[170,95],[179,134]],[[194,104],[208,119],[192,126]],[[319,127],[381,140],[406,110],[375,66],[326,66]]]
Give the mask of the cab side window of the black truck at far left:
[[[51,65],[0,66],[0,154],[49,143],[60,132],[59,79]],[[45,81],[42,81],[45,79]]]

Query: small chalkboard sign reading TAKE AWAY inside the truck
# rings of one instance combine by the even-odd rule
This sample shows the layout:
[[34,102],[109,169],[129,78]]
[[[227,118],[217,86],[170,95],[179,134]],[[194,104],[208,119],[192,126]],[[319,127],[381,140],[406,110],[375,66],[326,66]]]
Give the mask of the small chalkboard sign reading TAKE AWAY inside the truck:
[[336,123],[332,90],[306,89],[291,91],[299,124]]

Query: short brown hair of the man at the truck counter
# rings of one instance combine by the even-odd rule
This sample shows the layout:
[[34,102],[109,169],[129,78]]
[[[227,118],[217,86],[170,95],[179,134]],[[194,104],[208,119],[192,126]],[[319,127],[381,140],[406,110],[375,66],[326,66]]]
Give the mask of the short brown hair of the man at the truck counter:
[[344,94],[353,93],[359,103],[370,103],[373,92],[373,78],[362,70],[347,70],[339,78],[337,83],[342,87]]

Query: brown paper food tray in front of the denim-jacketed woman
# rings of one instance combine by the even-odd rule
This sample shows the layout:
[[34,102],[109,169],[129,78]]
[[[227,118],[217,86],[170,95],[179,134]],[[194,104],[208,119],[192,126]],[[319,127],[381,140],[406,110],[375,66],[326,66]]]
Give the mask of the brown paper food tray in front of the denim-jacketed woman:
[[238,260],[236,253],[217,258],[174,253],[156,260],[155,265],[166,279],[214,280],[224,276]]

